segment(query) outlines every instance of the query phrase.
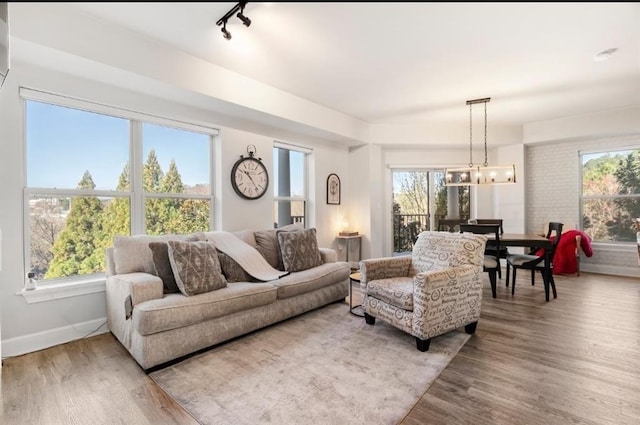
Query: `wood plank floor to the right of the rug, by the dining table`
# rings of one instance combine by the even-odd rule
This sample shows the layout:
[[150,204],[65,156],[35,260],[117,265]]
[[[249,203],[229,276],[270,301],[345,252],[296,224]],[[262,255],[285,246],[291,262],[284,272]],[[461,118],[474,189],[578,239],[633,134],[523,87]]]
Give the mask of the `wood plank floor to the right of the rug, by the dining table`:
[[557,277],[547,303],[521,277],[513,298],[487,284],[476,334],[402,424],[640,423],[640,281]]

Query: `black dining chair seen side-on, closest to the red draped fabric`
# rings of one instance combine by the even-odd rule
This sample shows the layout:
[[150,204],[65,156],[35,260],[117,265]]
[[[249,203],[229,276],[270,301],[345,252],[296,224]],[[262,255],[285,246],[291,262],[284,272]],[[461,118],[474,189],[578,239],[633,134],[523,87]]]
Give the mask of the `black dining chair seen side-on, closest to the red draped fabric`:
[[[553,237],[553,243],[551,245],[551,249],[549,252],[549,261],[550,263],[546,264],[545,255],[539,256],[537,253],[540,250],[539,247],[532,248],[528,254],[511,254],[507,256],[507,267],[511,267],[513,269],[513,280],[511,281],[511,295],[515,293],[516,290],[516,271],[518,269],[531,270],[531,285],[535,285],[535,273],[539,271],[542,275],[542,278],[549,282],[551,288],[553,289],[553,296],[556,296],[556,284],[553,280],[553,256],[556,253],[556,249],[558,248],[558,244],[560,243],[560,235],[562,235],[562,223],[558,222],[550,222],[549,228],[547,230],[546,238],[550,239]],[[545,276],[545,273],[548,272],[548,276]],[[509,275],[507,274],[507,279]],[[509,282],[507,281],[507,286]]]

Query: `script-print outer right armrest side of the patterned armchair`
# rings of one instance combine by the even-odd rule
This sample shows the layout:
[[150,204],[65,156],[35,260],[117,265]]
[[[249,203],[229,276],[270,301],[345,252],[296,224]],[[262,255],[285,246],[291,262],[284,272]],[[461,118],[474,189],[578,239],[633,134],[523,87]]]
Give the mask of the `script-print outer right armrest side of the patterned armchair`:
[[482,266],[463,265],[413,278],[413,331],[428,339],[480,318]]

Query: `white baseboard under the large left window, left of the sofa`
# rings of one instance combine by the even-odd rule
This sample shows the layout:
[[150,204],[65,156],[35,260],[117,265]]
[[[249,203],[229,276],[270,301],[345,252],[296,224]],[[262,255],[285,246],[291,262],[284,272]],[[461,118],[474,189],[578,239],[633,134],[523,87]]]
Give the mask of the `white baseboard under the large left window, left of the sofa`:
[[107,318],[36,332],[2,341],[3,358],[20,356],[88,336],[109,332]]

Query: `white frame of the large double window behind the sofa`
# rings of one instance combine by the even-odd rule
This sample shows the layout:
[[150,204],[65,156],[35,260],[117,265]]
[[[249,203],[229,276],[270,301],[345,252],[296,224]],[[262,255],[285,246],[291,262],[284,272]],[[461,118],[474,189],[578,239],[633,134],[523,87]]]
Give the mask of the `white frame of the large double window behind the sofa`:
[[[104,105],[97,102],[62,96],[45,91],[34,90],[26,87],[19,87],[19,97],[22,102],[24,117],[23,124],[23,268],[25,276],[31,270],[31,234],[29,217],[29,200],[34,196],[65,198],[78,196],[95,196],[107,198],[127,198],[129,200],[130,234],[145,234],[145,203],[147,199],[201,199],[209,203],[209,229],[214,226],[214,143],[219,135],[219,130],[200,124],[189,123],[157,115],[146,114],[116,106]],[[27,158],[27,103],[40,102],[55,107],[71,108],[80,111],[107,115],[129,121],[128,135],[128,161],[130,164],[130,184],[128,191],[119,190],[86,190],[72,188],[53,187],[29,187],[28,186],[28,158]],[[209,173],[208,184],[210,187],[208,194],[186,194],[186,193],[146,193],[143,190],[142,175],[144,169],[144,158],[142,155],[144,138],[142,127],[144,124],[153,124],[169,127],[177,130],[200,133],[208,136],[208,158]],[[43,279],[38,281],[37,289],[26,291],[23,289],[28,302],[46,301],[49,299],[64,298],[85,293],[99,292],[104,290],[105,273],[92,273],[85,275],[75,275],[62,278]],[[85,289],[78,288],[78,285],[85,286]],[[59,289],[56,290],[56,288]]]

